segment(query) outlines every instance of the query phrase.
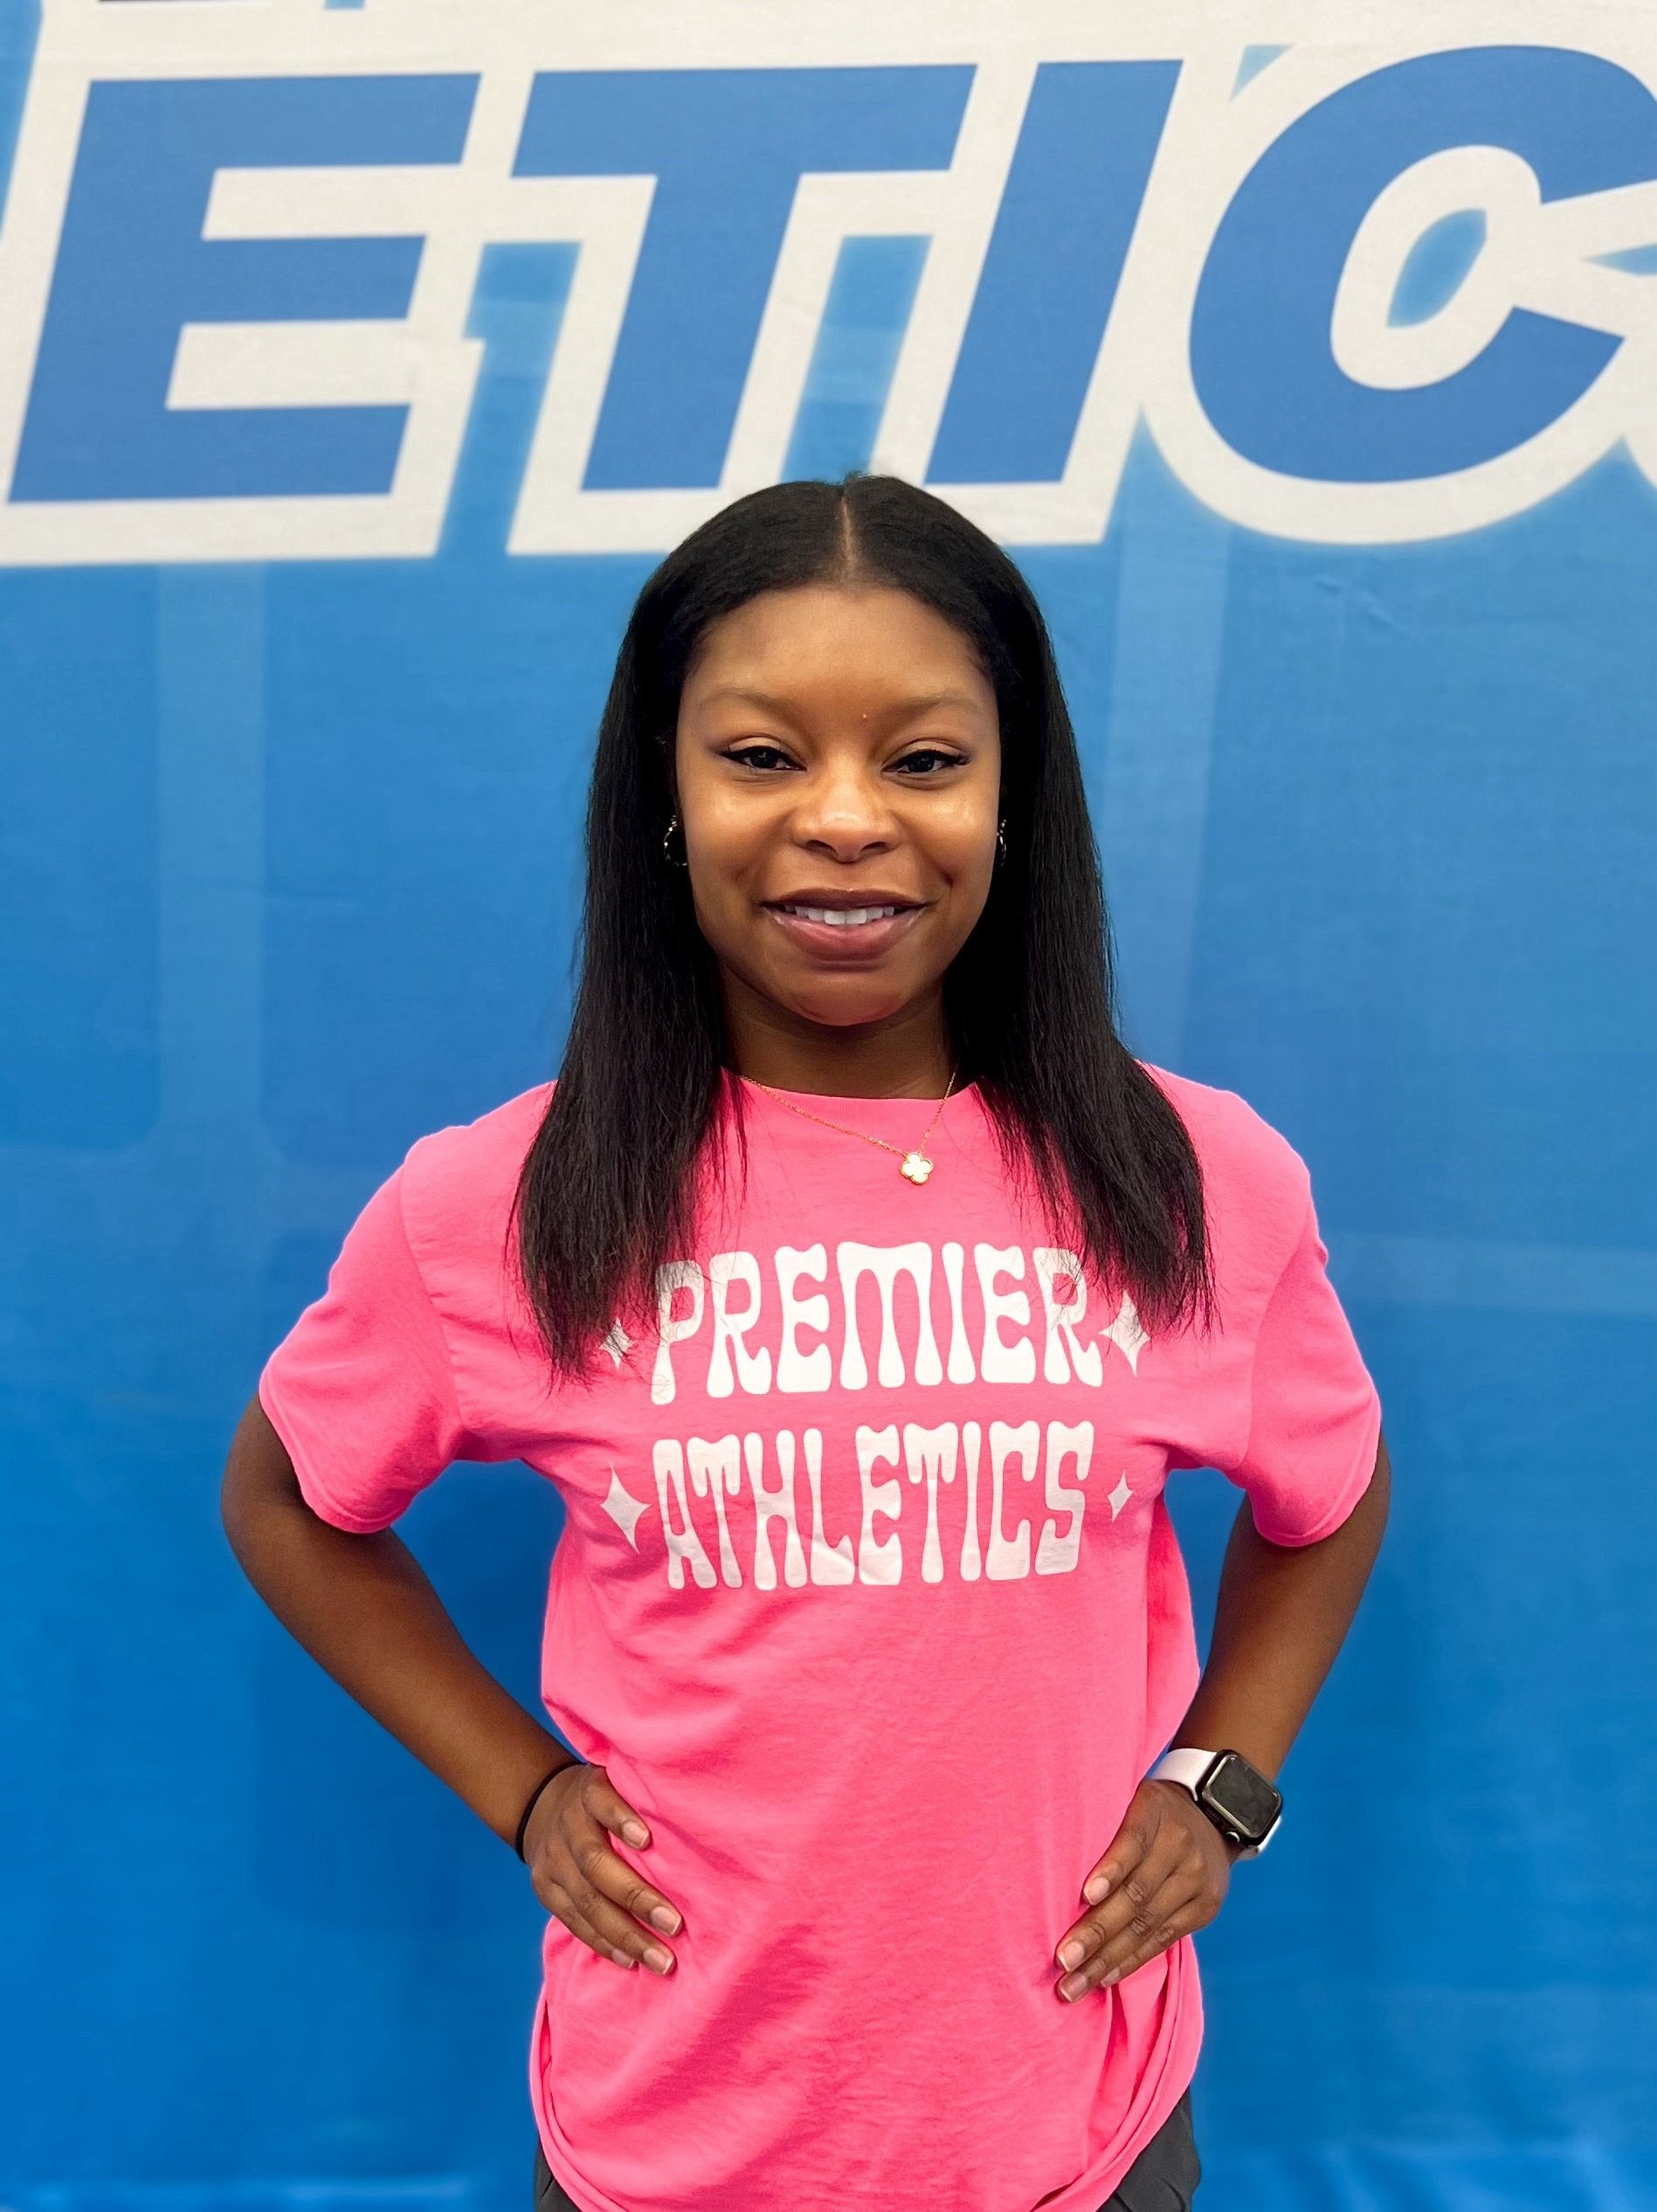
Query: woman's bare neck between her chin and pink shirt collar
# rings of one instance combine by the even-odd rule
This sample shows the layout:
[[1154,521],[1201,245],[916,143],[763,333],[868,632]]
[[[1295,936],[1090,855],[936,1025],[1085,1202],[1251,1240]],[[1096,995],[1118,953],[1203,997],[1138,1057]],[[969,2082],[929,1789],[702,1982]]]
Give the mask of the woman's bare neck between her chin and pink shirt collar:
[[753,1084],[820,1097],[941,1099],[954,1073],[941,989],[882,1022],[846,1026],[809,1022],[729,973],[722,995],[729,1064]]

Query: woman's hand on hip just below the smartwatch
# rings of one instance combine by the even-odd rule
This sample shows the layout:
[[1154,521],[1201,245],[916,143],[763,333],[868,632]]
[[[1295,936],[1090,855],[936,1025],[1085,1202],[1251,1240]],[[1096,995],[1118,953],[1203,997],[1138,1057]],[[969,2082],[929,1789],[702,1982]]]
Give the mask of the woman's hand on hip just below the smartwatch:
[[[1058,1940],[1058,1953],[1080,1944],[1058,1995],[1120,1982],[1158,1951],[1206,1927],[1226,1902],[1235,1849],[1178,1783],[1144,1781],[1133,1792],[1116,1840],[1083,1882],[1091,1902]],[[1107,1885],[1107,1887],[1102,1887]]]

